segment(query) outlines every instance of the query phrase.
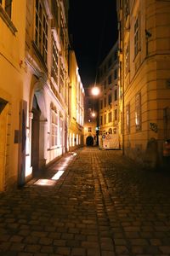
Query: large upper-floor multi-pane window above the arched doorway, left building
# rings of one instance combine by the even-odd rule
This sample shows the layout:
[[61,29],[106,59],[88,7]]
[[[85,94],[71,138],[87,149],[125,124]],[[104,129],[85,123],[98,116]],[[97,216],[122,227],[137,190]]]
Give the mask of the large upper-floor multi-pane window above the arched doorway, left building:
[[35,44],[42,55],[43,61],[46,63],[48,55],[48,21],[42,8],[41,0],[36,0]]

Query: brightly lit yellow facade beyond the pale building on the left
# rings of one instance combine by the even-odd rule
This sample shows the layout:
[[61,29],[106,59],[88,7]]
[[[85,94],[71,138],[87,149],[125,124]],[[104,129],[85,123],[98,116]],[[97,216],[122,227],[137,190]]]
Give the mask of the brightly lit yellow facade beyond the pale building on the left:
[[69,148],[74,150],[83,146],[85,94],[73,50],[69,51],[69,78]]

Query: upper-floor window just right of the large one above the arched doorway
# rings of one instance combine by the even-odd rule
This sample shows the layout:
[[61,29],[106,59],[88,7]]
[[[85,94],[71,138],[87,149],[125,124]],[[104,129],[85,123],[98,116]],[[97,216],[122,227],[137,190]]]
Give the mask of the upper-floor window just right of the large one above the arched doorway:
[[52,77],[56,84],[58,84],[58,72],[59,72],[59,54],[58,49],[53,38],[53,62],[52,62]]

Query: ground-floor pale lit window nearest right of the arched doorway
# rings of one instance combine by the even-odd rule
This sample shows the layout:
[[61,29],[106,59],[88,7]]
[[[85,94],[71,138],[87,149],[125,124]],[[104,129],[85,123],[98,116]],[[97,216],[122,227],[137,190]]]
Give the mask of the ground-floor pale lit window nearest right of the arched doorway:
[[51,146],[58,144],[58,114],[51,109]]

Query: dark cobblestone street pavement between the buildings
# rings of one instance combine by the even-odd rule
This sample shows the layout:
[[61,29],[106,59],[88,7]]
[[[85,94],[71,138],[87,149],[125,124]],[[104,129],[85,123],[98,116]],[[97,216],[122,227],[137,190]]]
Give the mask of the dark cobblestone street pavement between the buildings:
[[[57,170],[65,172],[50,179]],[[121,151],[67,154],[0,195],[0,255],[170,255],[170,175],[142,170]]]

